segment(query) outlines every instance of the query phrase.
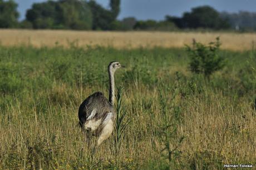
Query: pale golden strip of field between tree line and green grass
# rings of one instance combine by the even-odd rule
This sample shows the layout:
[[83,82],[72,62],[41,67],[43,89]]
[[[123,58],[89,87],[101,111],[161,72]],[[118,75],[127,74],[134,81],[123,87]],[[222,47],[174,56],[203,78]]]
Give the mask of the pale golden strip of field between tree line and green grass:
[[35,47],[70,47],[70,44],[86,46],[111,46],[115,48],[138,47],[184,47],[195,38],[208,43],[220,36],[223,49],[243,51],[251,49],[256,42],[256,33],[199,33],[199,32],[93,32],[93,31],[31,31],[1,29],[0,43],[3,46],[20,44]]

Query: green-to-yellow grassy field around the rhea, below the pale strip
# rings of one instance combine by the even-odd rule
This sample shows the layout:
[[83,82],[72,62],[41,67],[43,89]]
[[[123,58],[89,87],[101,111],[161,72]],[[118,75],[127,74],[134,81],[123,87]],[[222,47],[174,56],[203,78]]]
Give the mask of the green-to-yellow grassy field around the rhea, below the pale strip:
[[[206,81],[183,48],[1,46],[0,169],[255,168],[256,51],[220,55],[227,66]],[[77,112],[91,93],[108,95],[110,61],[126,66],[116,85],[131,123],[119,149],[114,133],[93,154]]]

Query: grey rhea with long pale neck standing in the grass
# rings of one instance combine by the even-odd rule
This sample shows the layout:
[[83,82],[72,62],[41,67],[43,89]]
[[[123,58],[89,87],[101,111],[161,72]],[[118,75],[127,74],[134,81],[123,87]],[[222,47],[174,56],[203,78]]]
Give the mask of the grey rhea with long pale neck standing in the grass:
[[96,92],[83,101],[78,110],[80,126],[86,131],[95,132],[99,138],[96,146],[110,137],[114,129],[116,113],[115,102],[115,71],[122,68],[119,62],[111,62],[109,71],[109,100],[101,92]]

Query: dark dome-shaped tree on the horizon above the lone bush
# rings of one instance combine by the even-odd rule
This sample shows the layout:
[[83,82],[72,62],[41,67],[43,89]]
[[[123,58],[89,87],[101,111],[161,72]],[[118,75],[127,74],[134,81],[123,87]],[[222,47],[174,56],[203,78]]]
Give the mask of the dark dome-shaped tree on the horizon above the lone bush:
[[182,19],[184,27],[188,28],[225,29],[230,27],[228,21],[221,18],[218,11],[210,6],[192,8],[191,12],[183,14]]

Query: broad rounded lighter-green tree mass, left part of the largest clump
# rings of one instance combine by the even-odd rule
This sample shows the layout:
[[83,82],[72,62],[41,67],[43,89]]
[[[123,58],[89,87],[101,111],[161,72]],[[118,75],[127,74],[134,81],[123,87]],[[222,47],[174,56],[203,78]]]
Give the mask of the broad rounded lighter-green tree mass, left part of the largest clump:
[[85,1],[59,0],[34,3],[26,13],[33,28],[91,29],[92,15]]

